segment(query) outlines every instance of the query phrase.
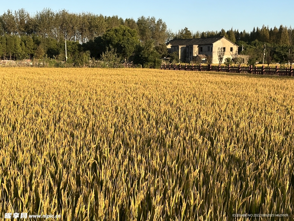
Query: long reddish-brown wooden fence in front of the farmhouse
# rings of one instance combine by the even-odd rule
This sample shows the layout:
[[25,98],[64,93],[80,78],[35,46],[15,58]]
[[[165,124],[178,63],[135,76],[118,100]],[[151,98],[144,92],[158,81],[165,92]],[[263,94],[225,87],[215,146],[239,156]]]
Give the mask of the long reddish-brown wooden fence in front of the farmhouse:
[[216,71],[216,72],[229,72],[229,73],[250,73],[256,75],[279,75],[279,76],[292,76],[294,68],[290,66],[290,68],[280,68],[278,66],[275,67],[253,67],[250,65],[249,67],[231,67],[230,65],[227,67],[224,66],[213,66],[213,65],[161,65],[161,70],[182,70],[182,71]]

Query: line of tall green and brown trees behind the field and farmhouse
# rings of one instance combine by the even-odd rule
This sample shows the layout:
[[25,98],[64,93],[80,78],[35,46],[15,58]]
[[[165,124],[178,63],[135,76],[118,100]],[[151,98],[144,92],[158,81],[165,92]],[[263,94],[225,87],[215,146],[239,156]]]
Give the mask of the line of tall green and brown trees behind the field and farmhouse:
[[[225,36],[239,46],[239,54],[249,55],[249,62],[286,63],[293,61],[294,32],[291,27],[253,28],[192,32],[187,27],[174,33],[162,19],[139,17],[122,19],[90,12],[43,9],[31,15],[25,9],[7,10],[0,16],[0,59],[64,60],[65,46],[69,62],[84,54],[94,59],[110,52],[121,60],[131,60],[145,67],[157,67],[159,58],[169,56],[166,42],[171,39]],[[106,53],[107,51],[107,53]],[[264,55],[265,54],[265,55]],[[109,54],[110,55],[110,54]],[[172,55],[171,55],[172,56]]]

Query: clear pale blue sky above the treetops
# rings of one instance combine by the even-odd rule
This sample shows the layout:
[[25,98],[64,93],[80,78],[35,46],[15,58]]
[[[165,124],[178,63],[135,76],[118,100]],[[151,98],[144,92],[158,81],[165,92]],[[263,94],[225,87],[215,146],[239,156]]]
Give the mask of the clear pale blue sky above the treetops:
[[0,13],[24,8],[31,14],[44,8],[54,11],[66,9],[69,12],[92,12],[106,16],[134,18],[154,16],[166,22],[169,29],[177,32],[187,27],[189,30],[212,31],[239,29],[251,31],[253,27],[279,27],[281,24],[294,27],[293,0],[186,0],[186,1],[118,1],[118,0],[51,0],[51,1],[2,1]]

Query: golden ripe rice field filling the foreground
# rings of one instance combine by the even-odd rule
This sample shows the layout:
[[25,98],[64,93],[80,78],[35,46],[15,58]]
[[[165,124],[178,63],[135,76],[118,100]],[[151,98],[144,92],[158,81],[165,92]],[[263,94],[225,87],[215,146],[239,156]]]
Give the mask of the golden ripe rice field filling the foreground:
[[294,78],[0,68],[0,101],[3,219],[294,220]]

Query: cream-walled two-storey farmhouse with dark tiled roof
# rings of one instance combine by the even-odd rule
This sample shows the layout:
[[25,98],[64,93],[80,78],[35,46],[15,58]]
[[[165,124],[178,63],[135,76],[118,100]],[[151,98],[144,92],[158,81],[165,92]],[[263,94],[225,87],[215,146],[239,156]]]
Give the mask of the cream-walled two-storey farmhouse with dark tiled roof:
[[178,52],[179,61],[191,62],[193,58],[212,56],[212,63],[218,62],[218,48],[223,48],[225,54],[223,62],[227,57],[233,58],[238,54],[238,45],[229,41],[223,36],[196,38],[196,39],[175,39],[166,44],[168,53]]

